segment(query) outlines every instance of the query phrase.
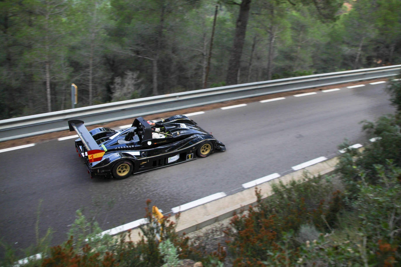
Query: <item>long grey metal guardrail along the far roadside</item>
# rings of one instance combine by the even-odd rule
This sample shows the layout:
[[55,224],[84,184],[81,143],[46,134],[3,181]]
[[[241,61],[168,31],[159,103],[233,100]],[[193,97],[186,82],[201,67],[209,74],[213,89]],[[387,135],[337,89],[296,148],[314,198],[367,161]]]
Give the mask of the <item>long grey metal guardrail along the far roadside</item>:
[[301,90],[346,82],[388,78],[396,76],[401,65],[367,68],[324,74],[314,74],[263,82],[252,82],[216,88],[207,88],[151,96],[95,106],[67,109],[43,114],[0,120],[0,142],[33,135],[67,130],[67,120],[80,118],[86,125],[134,118],[147,114],[166,112],[181,108],[213,104],[227,100]]

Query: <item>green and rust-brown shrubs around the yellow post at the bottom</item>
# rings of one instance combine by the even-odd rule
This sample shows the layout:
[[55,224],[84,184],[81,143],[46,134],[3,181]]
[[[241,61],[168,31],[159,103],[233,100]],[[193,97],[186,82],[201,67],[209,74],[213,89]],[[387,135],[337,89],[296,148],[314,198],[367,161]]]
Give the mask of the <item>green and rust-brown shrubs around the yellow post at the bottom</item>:
[[[153,217],[150,201],[146,218],[150,223],[141,225],[140,241],[134,242],[131,232],[113,238],[100,235],[95,221],[88,221],[81,211],[71,226],[71,237],[63,245],[51,247],[42,266],[177,266],[180,259],[202,261],[205,266],[221,266],[225,251],[221,247],[208,253],[192,245],[187,237],[178,237],[176,223],[168,217]],[[177,215],[176,220],[178,220]],[[32,261],[36,266],[38,261]],[[12,263],[12,261],[10,261]]]

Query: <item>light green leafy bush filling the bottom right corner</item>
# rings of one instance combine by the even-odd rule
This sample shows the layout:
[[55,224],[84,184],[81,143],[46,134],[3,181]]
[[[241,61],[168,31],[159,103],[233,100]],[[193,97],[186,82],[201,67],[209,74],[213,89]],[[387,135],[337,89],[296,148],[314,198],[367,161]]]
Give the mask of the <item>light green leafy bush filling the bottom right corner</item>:
[[[352,213],[345,229],[353,237],[334,237],[321,235],[313,243],[306,242],[300,247],[298,263],[329,263],[334,266],[395,266],[401,260],[399,254],[401,235],[401,169],[394,165],[384,168],[376,165],[379,182],[364,181],[358,187],[358,195],[353,203]],[[388,169],[389,172],[384,170]]]

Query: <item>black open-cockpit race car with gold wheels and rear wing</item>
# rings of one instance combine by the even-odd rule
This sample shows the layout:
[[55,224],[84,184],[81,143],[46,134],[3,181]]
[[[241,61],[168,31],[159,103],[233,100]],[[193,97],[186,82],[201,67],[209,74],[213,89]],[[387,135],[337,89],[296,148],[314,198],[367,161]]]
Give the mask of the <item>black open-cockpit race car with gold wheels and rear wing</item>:
[[223,143],[184,115],[160,121],[139,117],[123,130],[100,127],[88,131],[83,123],[68,121],[70,131],[78,134],[75,147],[85,159],[91,177],[111,175],[124,179],[133,173],[226,150]]

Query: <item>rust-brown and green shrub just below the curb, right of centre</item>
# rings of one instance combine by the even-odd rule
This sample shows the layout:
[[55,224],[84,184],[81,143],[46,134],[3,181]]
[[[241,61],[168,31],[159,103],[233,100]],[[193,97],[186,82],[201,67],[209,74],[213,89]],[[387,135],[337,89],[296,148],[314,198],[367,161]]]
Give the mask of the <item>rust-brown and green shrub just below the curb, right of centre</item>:
[[235,266],[292,266],[300,245],[294,236],[306,232],[302,226],[329,231],[342,208],[341,194],[330,178],[305,174],[300,181],[280,181],[272,189],[274,194],[265,200],[256,190],[256,206],[231,220],[233,230],[227,234],[233,238],[229,245]]

